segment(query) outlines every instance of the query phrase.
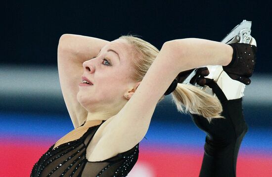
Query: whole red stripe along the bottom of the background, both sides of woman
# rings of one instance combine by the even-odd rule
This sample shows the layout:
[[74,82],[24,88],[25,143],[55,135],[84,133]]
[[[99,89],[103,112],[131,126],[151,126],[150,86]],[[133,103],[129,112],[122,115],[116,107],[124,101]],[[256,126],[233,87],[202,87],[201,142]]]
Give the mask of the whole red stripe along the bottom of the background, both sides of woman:
[[[50,146],[50,143],[39,145],[25,141],[1,141],[1,177],[29,177],[33,165]],[[142,147],[137,164],[146,164],[146,168],[153,173],[152,177],[198,177],[201,161],[201,152],[165,152],[163,149],[154,151]],[[239,155],[237,177],[272,177],[272,158],[266,158],[264,155]]]

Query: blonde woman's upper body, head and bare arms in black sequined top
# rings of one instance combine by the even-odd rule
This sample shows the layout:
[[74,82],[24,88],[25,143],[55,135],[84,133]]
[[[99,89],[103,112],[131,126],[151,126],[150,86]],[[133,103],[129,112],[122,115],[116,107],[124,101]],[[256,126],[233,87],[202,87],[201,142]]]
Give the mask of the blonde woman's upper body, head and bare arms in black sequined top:
[[[132,36],[108,42],[63,35],[58,71],[75,129],[45,152],[31,176],[127,176],[156,104],[173,91],[169,86],[179,73],[205,65],[228,67],[237,59],[232,54],[230,45],[202,39],[169,41],[159,51]],[[216,97],[189,85],[174,89],[179,110],[184,106],[207,120],[223,117]]]

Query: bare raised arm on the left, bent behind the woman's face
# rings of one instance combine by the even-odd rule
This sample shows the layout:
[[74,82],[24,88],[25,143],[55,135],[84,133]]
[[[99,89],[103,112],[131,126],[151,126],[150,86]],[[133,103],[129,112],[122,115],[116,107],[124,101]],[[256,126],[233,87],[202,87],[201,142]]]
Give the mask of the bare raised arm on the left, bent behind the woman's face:
[[75,128],[87,117],[88,111],[77,100],[83,74],[82,63],[96,56],[109,43],[97,38],[64,34],[59,39],[57,64],[63,98]]

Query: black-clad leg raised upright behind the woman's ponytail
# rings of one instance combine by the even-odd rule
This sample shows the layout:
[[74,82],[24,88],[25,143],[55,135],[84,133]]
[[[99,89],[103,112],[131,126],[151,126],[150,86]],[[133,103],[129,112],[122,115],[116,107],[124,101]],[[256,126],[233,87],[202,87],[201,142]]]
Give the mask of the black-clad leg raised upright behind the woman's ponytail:
[[200,177],[236,177],[236,162],[242,139],[247,132],[242,109],[242,98],[227,100],[218,85],[210,81],[223,107],[222,116],[226,119],[213,119],[190,114],[195,125],[205,132],[204,157]]

